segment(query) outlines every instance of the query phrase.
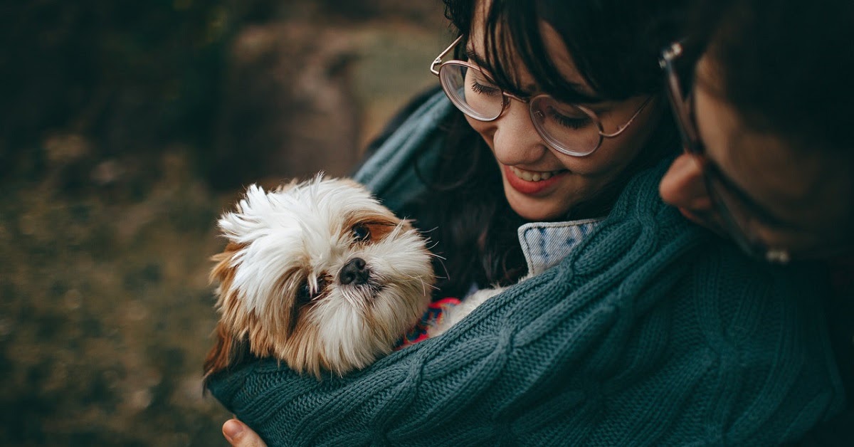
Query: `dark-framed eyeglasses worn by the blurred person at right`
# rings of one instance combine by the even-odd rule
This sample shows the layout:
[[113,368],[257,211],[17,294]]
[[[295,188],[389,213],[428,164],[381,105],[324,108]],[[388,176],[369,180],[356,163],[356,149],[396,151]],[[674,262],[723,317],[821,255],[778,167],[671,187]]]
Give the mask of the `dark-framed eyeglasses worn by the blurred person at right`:
[[[791,258],[788,250],[769,247],[758,237],[756,216],[763,212],[751,206],[752,201],[705,155],[705,146],[699,138],[693,115],[691,94],[683,88],[676,70],[676,62],[684,53],[681,42],[676,42],[662,51],[658,63],[664,70],[666,90],[682,143],[687,153],[699,163],[705,189],[722,221],[723,228],[720,229],[748,254],[769,262],[787,263]],[[712,226],[717,225],[712,223]]]

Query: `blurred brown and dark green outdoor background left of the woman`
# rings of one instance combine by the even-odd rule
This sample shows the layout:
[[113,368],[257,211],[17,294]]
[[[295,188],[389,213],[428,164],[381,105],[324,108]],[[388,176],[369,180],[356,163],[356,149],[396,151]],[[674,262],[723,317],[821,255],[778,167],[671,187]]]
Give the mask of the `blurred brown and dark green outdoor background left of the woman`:
[[0,445],[225,445],[217,216],[348,174],[452,38],[439,0],[0,4]]

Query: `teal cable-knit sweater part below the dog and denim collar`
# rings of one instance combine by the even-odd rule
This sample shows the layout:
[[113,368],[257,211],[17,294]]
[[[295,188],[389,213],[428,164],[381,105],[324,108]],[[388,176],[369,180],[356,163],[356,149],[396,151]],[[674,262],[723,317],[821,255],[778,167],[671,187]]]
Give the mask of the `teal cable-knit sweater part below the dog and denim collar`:
[[268,359],[209,388],[271,445],[798,439],[844,403],[821,272],[752,262],[687,223],[659,199],[662,174],[637,175],[563,262],[441,337],[343,378]]

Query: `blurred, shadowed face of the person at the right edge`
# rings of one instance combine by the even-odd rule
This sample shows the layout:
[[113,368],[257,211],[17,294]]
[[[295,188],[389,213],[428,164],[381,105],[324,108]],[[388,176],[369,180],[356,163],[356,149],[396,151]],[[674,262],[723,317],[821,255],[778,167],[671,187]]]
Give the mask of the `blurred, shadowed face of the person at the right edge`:
[[[744,223],[749,237],[794,256],[850,244],[850,162],[746,128],[738,111],[715,92],[719,83],[712,68],[707,57],[700,59],[693,112],[708,163],[725,178],[712,187],[717,197],[731,197],[727,212],[734,221]],[[681,156],[662,179],[661,195],[688,218],[722,227],[703,175],[693,156]]]

